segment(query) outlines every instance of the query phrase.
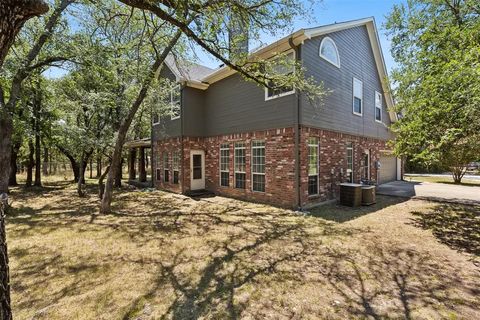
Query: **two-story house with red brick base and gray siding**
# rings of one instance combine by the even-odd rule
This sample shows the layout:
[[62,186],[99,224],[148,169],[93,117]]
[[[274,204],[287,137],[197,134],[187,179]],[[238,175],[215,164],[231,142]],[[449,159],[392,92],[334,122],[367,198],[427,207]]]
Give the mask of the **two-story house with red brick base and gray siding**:
[[228,67],[167,61],[162,74],[179,86],[152,127],[155,187],[298,208],[337,197],[341,182],[401,178],[386,144],[396,114],[374,19],[302,29],[254,54],[279,52],[331,91],[322,106]]

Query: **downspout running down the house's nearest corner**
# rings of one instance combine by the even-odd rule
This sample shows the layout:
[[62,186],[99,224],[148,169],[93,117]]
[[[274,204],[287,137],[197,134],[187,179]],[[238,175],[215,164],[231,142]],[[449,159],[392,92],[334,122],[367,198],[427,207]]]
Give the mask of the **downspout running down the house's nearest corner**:
[[[295,51],[295,60],[300,61],[300,48],[295,46],[293,39],[290,37],[288,39],[288,44]],[[294,148],[293,152],[295,153],[295,204],[297,209],[300,210],[302,207],[301,203],[301,188],[300,188],[300,92],[295,88],[295,118],[293,124],[294,130]]]

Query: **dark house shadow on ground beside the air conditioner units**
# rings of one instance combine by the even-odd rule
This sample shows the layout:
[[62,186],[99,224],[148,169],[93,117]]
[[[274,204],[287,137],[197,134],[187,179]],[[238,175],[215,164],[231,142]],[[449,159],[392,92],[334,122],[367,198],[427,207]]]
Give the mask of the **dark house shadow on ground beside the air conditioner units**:
[[353,219],[357,219],[359,217],[362,217],[370,213],[374,213],[386,207],[408,201],[409,199],[402,198],[402,197],[389,197],[389,196],[377,195],[376,200],[377,202],[373,205],[360,206],[357,208],[342,206],[339,204],[319,206],[311,209],[309,215],[313,217],[322,218],[325,220],[342,223],[342,222],[350,221]]

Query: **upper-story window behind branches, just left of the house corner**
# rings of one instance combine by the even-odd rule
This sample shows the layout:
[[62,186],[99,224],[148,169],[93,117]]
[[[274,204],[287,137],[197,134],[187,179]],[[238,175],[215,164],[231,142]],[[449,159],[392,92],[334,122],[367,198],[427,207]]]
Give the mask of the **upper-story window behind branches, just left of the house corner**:
[[[274,78],[275,76],[286,78],[288,75],[295,72],[294,62],[295,54],[292,51],[286,54],[285,58],[282,60],[280,60],[280,58],[273,60],[273,66],[271,66],[271,70],[267,71],[267,74],[270,74]],[[265,88],[265,100],[275,99],[295,92],[294,88],[291,85],[288,85],[285,79],[277,79],[277,82],[274,83],[271,81],[269,84],[271,88]]]

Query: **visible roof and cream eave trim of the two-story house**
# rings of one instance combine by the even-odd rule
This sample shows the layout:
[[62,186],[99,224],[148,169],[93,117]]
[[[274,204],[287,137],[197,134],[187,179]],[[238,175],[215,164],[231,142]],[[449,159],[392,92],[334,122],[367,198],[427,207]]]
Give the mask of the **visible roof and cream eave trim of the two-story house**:
[[[286,37],[281,38],[280,40],[277,40],[265,47],[258,49],[257,51],[252,52],[250,56],[270,58],[278,53],[291,49],[290,43],[293,43],[295,46],[298,46],[300,44],[303,44],[303,42],[307,39],[312,39],[314,37],[318,37],[328,33],[360,27],[360,26],[365,26],[367,28],[368,37],[370,40],[370,44],[372,46],[373,56],[375,58],[375,65],[378,70],[378,76],[380,77],[380,81],[382,83],[383,94],[387,102],[390,120],[392,122],[395,122],[397,120],[397,114],[393,111],[394,101],[391,93],[390,84],[388,82],[387,67],[385,65],[385,58],[383,56],[382,48],[380,45],[380,39],[378,36],[377,27],[375,25],[375,19],[373,17],[368,17],[368,18],[363,18],[358,20],[351,20],[351,21],[340,22],[340,23],[333,23],[333,24],[319,26],[315,28],[300,29],[298,31],[295,31],[294,33],[291,33]],[[200,66],[200,65],[196,65],[196,66]],[[200,66],[200,67],[203,67],[203,66]],[[201,73],[199,71],[198,74],[195,74],[196,75],[195,77],[192,76],[192,79],[190,80],[188,78],[184,78],[188,86],[205,90],[208,88],[210,84],[220,81],[236,73],[236,71],[232,70],[228,66],[224,66],[215,70],[207,67],[203,67],[203,68],[204,68],[202,69],[204,71],[203,77],[199,76]],[[209,72],[207,72],[208,70],[206,69],[208,69]],[[194,73],[193,70],[192,70],[192,73]]]

